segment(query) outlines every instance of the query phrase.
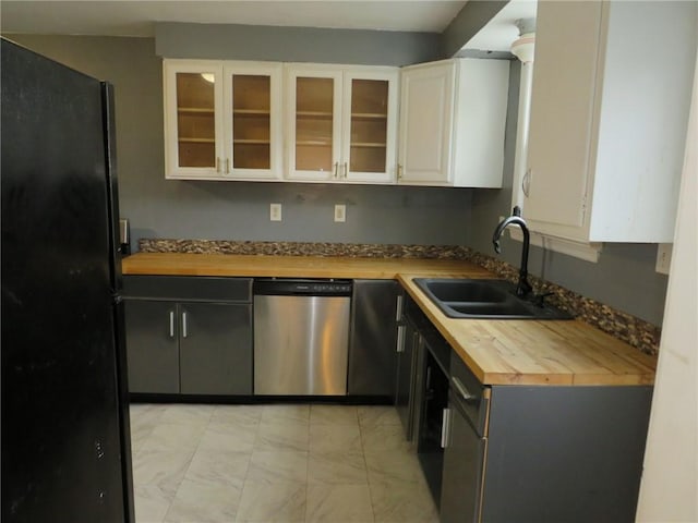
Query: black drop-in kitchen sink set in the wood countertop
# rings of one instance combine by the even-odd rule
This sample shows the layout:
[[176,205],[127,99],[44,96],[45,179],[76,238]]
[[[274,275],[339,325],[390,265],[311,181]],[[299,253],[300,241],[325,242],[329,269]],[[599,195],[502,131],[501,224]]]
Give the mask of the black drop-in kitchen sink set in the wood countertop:
[[518,297],[506,280],[416,278],[414,283],[449,318],[571,319],[551,305]]

